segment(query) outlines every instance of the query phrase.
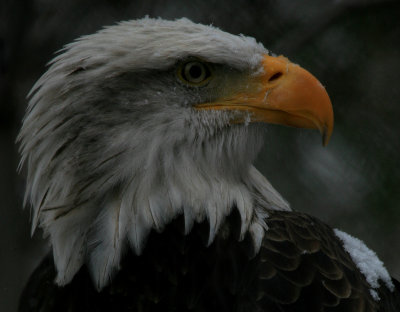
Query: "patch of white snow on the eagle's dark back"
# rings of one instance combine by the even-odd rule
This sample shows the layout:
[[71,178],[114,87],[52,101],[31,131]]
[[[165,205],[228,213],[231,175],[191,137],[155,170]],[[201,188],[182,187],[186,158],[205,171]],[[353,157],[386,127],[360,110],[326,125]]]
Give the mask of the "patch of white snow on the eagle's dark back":
[[[388,271],[383,262],[379,260],[375,252],[369,249],[363,241],[355,238],[338,229],[334,229],[336,236],[343,242],[344,249],[350,254],[352,260],[357,265],[371,288],[379,288],[379,280],[382,280],[387,288],[394,291],[394,285]],[[370,293],[374,300],[378,301],[378,293],[370,289]]]

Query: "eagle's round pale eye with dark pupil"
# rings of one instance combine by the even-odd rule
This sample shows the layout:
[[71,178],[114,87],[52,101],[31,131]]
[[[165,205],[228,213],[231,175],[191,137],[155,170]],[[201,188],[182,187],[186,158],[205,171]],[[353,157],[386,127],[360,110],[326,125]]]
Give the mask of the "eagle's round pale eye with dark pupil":
[[211,78],[211,71],[203,62],[189,61],[179,67],[178,77],[191,86],[202,86]]

